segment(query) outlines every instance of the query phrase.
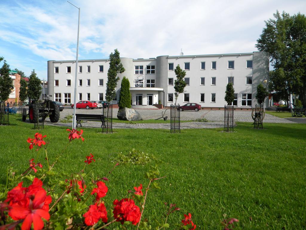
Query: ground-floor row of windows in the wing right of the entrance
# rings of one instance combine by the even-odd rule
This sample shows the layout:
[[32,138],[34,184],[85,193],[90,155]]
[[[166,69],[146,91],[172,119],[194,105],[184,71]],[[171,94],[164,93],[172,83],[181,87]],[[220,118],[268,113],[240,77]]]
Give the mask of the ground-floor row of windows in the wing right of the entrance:
[[[237,96],[234,94],[233,105],[237,106]],[[173,102],[173,93],[168,94],[168,102]],[[184,94],[184,102],[189,102],[189,94]],[[205,102],[205,93],[200,94],[200,102]],[[211,102],[216,102],[216,94],[211,94]],[[241,94],[241,106],[252,106],[252,94]]]

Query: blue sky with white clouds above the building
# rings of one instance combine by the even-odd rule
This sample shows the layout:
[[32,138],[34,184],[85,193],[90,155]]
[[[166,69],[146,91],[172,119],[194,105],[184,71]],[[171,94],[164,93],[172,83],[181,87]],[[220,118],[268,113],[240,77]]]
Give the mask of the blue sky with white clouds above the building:
[[[80,8],[80,59],[249,53],[273,13],[305,0],[70,0]],[[75,60],[78,9],[65,0],[0,0],[0,56],[47,79],[48,60]],[[3,62],[0,63],[2,66]]]

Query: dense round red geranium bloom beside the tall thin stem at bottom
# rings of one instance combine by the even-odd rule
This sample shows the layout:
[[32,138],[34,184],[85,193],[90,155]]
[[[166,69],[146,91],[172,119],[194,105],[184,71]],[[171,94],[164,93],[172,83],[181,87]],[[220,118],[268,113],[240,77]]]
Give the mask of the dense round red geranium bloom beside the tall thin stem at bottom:
[[136,225],[140,221],[140,208],[135,205],[132,199],[122,199],[121,201],[114,200],[114,218],[116,221],[124,223],[124,221],[131,221]]

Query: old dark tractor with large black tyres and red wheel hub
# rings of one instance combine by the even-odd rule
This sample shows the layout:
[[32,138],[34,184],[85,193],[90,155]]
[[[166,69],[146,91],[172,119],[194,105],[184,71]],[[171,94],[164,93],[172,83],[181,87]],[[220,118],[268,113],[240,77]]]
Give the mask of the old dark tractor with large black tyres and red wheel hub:
[[[40,109],[36,108],[37,103],[42,103]],[[42,117],[41,113],[43,114]],[[29,105],[29,113],[27,114],[27,109],[22,111],[22,121],[25,121],[27,116],[29,117],[30,123],[35,123],[38,119],[45,120],[49,116],[52,123],[58,122],[59,120],[59,108],[58,105],[54,104],[50,99],[45,100],[33,100]]]

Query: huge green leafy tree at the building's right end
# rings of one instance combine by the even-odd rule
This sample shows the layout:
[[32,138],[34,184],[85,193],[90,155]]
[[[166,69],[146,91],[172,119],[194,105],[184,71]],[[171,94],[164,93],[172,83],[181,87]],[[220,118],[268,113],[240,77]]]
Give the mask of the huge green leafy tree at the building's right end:
[[306,17],[276,11],[266,22],[256,48],[268,52],[274,71],[270,74],[277,96],[300,94],[306,106]]

